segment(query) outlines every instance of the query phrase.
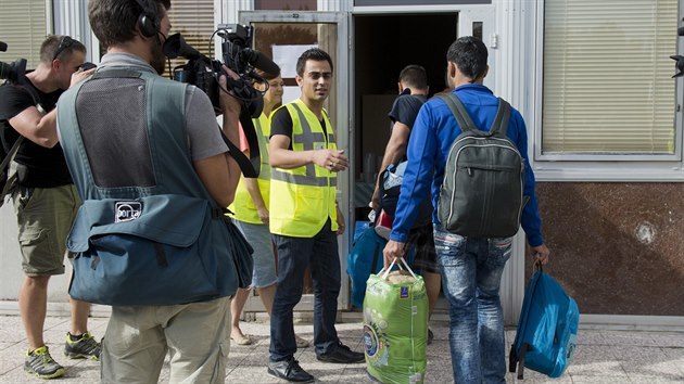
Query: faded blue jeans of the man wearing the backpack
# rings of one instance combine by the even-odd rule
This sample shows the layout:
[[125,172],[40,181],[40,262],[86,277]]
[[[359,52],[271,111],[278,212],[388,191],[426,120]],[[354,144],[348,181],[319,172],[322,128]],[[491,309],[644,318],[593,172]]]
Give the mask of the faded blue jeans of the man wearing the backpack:
[[505,384],[504,313],[498,296],[512,238],[469,239],[434,229],[449,304],[449,347],[458,384]]

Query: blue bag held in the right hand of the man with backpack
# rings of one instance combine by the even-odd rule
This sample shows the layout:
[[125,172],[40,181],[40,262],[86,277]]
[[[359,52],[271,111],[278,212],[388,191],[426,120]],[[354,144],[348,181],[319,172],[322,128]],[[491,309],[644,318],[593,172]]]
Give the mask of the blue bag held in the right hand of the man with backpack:
[[510,347],[508,370],[523,379],[524,368],[559,377],[572,361],[580,311],[577,303],[541,266],[528,282]]

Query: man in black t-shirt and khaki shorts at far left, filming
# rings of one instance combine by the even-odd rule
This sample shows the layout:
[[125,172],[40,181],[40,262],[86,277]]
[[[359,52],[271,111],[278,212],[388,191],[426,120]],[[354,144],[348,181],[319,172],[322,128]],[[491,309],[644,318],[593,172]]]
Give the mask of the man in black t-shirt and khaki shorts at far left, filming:
[[[80,79],[83,71],[78,67],[85,57],[86,47],[79,41],[49,36],[40,47],[36,69],[18,84],[0,87],[4,150],[9,151],[20,136],[24,138],[12,165],[17,178],[12,199],[25,274],[18,304],[28,340],[24,369],[41,379],[64,374],[45,344],[43,325],[48,282],[51,276],[64,273],[66,235],[80,205],[58,143],[54,105],[62,92]],[[72,299],[71,310],[65,355],[98,360],[100,345],[88,332],[90,305]]]

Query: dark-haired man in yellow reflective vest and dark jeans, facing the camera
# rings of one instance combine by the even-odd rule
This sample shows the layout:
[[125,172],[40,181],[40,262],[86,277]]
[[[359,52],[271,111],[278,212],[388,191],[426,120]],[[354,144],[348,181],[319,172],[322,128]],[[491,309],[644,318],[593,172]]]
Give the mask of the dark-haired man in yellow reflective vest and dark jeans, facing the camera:
[[268,373],[291,382],[314,376],[294,359],[294,306],[302,298],[304,271],[314,280],[314,345],[325,362],[353,363],[364,354],[340,343],[334,328],[340,294],[337,234],[344,217],[335,201],[337,172],[349,167],[338,150],[324,102],[332,86],[332,60],[305,51],[296,62],[300,99],[278,108],[271,120],[269,228],[278,247],[278,289],[270,315]]

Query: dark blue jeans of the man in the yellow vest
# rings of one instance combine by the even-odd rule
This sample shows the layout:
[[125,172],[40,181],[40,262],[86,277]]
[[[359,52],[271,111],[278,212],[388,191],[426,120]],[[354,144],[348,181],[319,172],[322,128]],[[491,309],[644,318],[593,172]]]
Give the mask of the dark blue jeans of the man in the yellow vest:
[[338,238],[330,220],[313,238],[274,234],[278,247],[278,287],[270,315],[270,361],[290,359],[296,351],[292,310],[302,298],[304,271],[314,281],[314,345],[316,355],[337,348],[334,329],[340,294]]

